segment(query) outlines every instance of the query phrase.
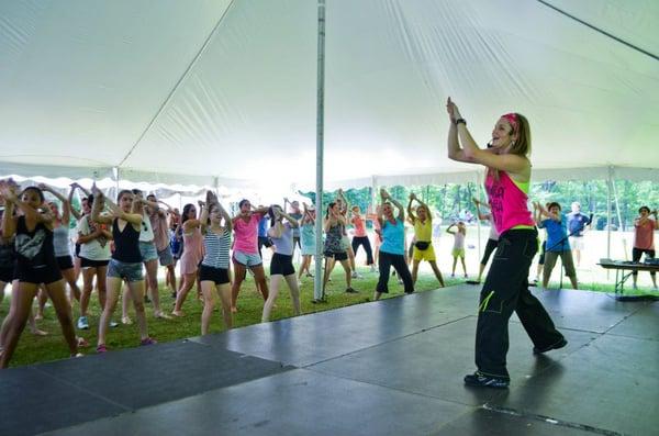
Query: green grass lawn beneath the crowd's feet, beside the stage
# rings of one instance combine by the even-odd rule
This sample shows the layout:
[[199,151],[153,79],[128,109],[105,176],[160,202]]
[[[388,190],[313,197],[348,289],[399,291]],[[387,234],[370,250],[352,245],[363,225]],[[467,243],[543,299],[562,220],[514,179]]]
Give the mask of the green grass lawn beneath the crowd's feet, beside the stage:
[[[360,269],[362,275],[361,279],[354,279],[353,286],[359,291],[359,293],[350,294],[345,293],[345,279],[343,270],[337,269],[332,275],[332,282],[327,289],[327,303],[312,304],[313,299],[313,279],[306,278],[303,280],[301,288],[301,302],[302,313],[314,313],[336,308],[343,308],[351,304],[359,304],[371,301],[373,298],[373,290],[378,281],[377,272],[367,272],[366,269]],[[459,284],[463,282],[463,279],[450,279],[446,278],[447,286]],[[390,293],[383,298],[398,298],[403,294],[403,287],[396,283],[395,278],[392,278],[389,282]],[[556,288],[558,283],[552,283]],[[563,283],[567,286],[567,283]],[[418,281],[416,282],[416,291],[424,292],[428,290],[437,289],[438,283],[435,277],[429,271],[420,271]],[[590,283],[584,289],[601,291],[601,292],[613,292],[613,284],[601,284]],[[626,290],[626,294],[644,293],[647,291],[635,291]],[[160,300],[161,306],[167,312],[170,312],[174,306],[174,299],[170,295],[170,291],[160,286]],[[246,282],[243,283],[241,294],[238,297],[238,313],[234,315],[234,327],[243,327],[246,325],[258,324],[261,317],[264,301],[260,294],[257,293],[254,286],[254,279],[248,276]],[[217,302],[217,305],[220,303]],[[188,299],[183,305],[185,317],[172,318],[172,320],[157,320],[153,316],[153,308],[150,304],[146,304],[147,321],[149,327],[149,335],[156,338],[159,343],[171,342],[186,337],[193,337],[200,335],[201,329],[201,310],[202,304],[197,300],[196,289],[193,288],[188,294]],[[476,308],[474,308],[476,310]],[[0,317],[4,317],[9,311],[9,298],[3,301],[0,308]],[[76,303],[74,305],[74,318],[77,320],[79,315],[79,306]],[[81,349],[83,354],[96,353],[96,342],[98,333],[98,321],[99,321],[99,305],[96,293],[92,295],[92,300],[89,305],[89,324],[90,329],[88,331],[76,331],[79,336],[85,337],[90,346],[89,348]],[[288,287],[283,284],[283,288],[279,292],[279,298],[276,302],[276,308],[272,310],[271,321],[286,318],[292,315],[292,306],[290,293]],[[48,332],[47,336],[34,336],[30,333],[29,328],[25,328],[21,337],[18,349],[14,353],[11,361],[12,367],[22,365],[63,359],[68,357],[68,349],[62,336],[59,324],[55,316],[53,308],[47,306],[44,313],[44,320],[37,322],[37,326],[41,329]],[[131,310],[131,317],[135,321],[134,313]],[[118,310],[114,314],[113,320],[119,322],[121,318],[121,303],[118,304]],[[222,322],[222,314],[214,312],[211,321],[211,333],[222,332],[224,329]],[[122,325],[120,324],[116,328],[111,328],[108,334],[108,348],[110,350],[116,350],[121,348],[131,348],[137,346],[139,342],[137,326]]]

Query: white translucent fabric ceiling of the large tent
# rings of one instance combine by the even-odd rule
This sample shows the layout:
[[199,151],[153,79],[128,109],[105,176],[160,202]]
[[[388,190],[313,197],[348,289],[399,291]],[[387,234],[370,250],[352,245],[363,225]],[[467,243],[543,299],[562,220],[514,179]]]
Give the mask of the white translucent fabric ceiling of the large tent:
[[[659,54],[656,1],[548,3]],[[446,157],[447,96],[481,144],[524,113],[543,174],[659,167],[659,63],[543,2],[327,0],[326,15],[328,186],[473,172]],[[310,0],[1,2],[0,174],[313,186],[315,68]]]

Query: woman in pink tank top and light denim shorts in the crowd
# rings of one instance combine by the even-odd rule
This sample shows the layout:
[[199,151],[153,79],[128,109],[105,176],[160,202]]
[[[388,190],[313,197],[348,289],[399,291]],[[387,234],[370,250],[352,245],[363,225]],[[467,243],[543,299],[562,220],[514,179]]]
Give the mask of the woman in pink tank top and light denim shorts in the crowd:
[[266,272],[264,262],[258,254],[258,222],[268,212],[268,208],[252,209],[249,200],[241,200],[238,203],[241,213],[233,219],[233,228],[235,234],[233,264],[235,267],[234,282],[231,288],[231,310],[237,312],[236,302],[241,284],[245,280],[247,268],[254,272],[254,280],[257,289],[264,295],[264,301],[268,300],[268,283],[266,282]]

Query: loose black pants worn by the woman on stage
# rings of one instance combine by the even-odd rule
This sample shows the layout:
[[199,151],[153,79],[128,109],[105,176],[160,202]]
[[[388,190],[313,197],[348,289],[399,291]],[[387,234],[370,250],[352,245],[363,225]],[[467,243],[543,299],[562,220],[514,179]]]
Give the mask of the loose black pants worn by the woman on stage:
[[537,348],[563,339],[543,304],[528,291],[528,270],[538,250],[536,230],[511,230],[499,237],[499,246],[480,294],[476,328],[476,366],[488,376],[509,379],[509,320],[517,313]]

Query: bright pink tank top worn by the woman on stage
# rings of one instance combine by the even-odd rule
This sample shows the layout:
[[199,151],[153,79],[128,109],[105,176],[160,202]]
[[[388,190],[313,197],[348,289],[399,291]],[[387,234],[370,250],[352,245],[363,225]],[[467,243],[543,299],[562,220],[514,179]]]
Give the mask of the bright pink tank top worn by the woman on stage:
[[491,171],[488,171],[485,190],[490,198],[494,225],[500,235],[516,226],[535,225],[530,211],[526,206],[528,195],[515,185],[507,172],[499,171],[499,180],[495,180]]

